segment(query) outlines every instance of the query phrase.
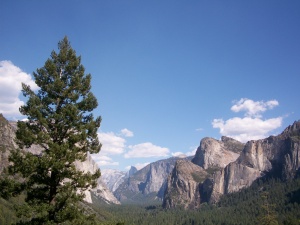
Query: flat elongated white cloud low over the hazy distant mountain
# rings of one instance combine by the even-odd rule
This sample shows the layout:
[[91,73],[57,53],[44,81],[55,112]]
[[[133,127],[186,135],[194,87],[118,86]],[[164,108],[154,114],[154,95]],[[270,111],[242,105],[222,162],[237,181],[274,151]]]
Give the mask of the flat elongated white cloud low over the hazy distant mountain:
[[125,155],[125,158],[148,158],[148,157],[165,157],[170,151],[168,148],[153,145],[150,142],[130,145],[130,149]]

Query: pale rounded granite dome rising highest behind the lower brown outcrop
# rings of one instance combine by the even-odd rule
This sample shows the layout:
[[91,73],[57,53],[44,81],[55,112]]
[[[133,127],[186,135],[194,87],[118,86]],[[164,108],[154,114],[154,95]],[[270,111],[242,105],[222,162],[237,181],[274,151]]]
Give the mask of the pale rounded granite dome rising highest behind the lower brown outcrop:
[[243,143],[229,137],[223,136],[221,141],[203,138],[192,162],[204,169],[224,168],[239,157],[243,148]]

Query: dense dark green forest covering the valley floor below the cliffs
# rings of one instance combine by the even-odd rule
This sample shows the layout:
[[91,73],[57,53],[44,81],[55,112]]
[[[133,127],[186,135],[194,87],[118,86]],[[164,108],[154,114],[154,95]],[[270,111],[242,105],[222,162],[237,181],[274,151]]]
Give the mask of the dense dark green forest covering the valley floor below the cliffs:
[[[0,224],[14,224],[14,207],[21,197],[0,199]],[[300,177],[283,182],[259,179],[250,188],[223,196],[217,205],[203,203],[198,210],[165,210],[157,205],[85,205],[95,219],[87,224],[161,225],[161,224],[300,224]]]

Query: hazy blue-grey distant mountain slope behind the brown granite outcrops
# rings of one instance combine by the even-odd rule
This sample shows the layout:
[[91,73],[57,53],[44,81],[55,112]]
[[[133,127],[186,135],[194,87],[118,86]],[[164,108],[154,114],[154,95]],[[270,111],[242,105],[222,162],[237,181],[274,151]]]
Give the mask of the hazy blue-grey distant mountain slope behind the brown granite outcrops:
[[119,201],[141,202],[145,199],[163,198],[166,181],[178,158],[159,160],[145,166],[127,178],[114,192]]

